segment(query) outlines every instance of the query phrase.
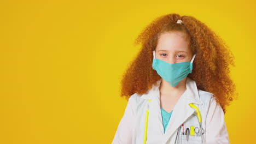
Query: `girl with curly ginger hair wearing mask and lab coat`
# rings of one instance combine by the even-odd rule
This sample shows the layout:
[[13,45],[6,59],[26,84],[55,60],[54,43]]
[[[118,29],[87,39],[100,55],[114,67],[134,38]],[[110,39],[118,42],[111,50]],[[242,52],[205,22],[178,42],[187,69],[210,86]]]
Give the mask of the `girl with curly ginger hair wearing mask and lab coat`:
[[229,143],[224,114],[234,98],[232,53],[193,16],[158,17],[121,81],[128,100],[115,143]]

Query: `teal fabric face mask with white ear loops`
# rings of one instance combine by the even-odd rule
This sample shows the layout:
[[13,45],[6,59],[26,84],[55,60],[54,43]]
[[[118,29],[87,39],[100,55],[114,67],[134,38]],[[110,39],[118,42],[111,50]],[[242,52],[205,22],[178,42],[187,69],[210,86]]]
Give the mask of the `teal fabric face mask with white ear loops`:
[[191,59],[191,62],[181,62],[181,63],[167,63],[160,59],[155,58],[155,51],[153,51],[153,63],[152,68],[156,70],[156,72],[172,87],[178,85],[179,81],[183,80],[185,77],[188,76],[189,73],[192,73],[193,69],[193,61],[196,56]]

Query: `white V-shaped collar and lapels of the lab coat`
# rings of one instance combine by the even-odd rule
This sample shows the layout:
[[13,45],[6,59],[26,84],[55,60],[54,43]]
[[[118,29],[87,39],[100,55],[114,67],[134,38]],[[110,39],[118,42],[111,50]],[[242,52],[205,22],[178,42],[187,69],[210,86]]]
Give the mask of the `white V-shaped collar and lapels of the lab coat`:
[[[199,93],[197,91],[196,83],[194,80],[187,77],[186,90],[181,95],[176,105],[174,106],[170,121],[167,125],[166,131],[164,133],[164,127],[162,126],[162,117],[160,109],[160,83],[162,79],[156,82],[156,85],[152,86],[146,94],[141,95],[143,99],[152,100],[149,105],[149,113],[153,113],[153,122],[160,125],[160,131],[162,132],[163,142],[166,143],[170,136],[174,134],[177,128],[183,124],[195,110],[189,106],[190,103],[202,105],[203,102],[199,98]],[[150,115],[150,114],[149,114]]]

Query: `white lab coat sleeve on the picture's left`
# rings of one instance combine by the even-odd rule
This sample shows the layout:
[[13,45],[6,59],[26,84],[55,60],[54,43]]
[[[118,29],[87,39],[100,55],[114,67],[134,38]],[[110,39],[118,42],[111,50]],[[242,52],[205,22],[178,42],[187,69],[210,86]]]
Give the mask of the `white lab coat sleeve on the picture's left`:
[[132,101],[130,97],[125,108],[125,112],[119,122],[117,131],[115,132],[112,144],[132,143],[132,131],[135,124],[135,115],[132,110]]

